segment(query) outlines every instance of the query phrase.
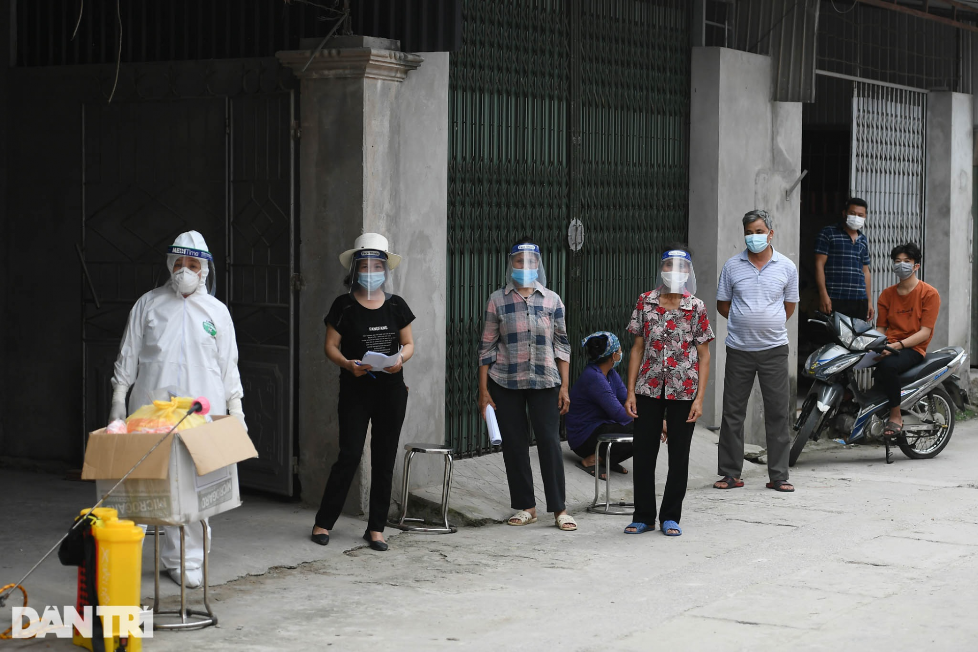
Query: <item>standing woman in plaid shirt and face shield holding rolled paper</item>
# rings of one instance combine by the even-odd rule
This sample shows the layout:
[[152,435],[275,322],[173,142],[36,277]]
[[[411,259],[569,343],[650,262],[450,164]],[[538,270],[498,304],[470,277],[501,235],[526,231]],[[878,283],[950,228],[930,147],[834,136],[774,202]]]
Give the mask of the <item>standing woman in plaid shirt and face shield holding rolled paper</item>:
[[567,381],[570,342],[563,301],[547,289],[540,247],[520,239],[510,252],[507,283],[489,297],[479,346],[479,411],[496,411],[503,434],[503,461],[510,485],[510,525],[537,520],[530,468],[529,412],[537,438],[547,511],[556,527],[577,529],[564,504],[560,414],[570,408]]

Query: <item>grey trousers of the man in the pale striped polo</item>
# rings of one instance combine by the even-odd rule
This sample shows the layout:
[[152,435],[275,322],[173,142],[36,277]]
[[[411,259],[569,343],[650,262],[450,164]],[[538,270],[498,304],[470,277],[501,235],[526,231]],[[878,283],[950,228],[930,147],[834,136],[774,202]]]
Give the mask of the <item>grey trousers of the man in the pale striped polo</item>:
[[772,482],[788,479],[788,345],[767,351],[737,351],[727,347],[724,372],[724,416],[720,423],[717,473],[739,478],[743,471],[743,420],[754,376],[764,399],[764,429],[768,447],[768,477]]

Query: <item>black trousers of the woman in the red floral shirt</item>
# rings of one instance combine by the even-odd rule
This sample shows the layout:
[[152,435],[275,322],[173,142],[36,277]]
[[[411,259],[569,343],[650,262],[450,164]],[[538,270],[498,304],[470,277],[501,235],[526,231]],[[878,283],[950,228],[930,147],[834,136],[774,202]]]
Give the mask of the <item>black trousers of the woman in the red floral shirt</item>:
[[669,472],[659,521],[679,523],[683,516],[683,499],[689,479],[689,445],[696,425],[686,422],[691,407],[692,401],[636,397],[639,418],[635,419],[635,513],[632,516],[636,523],[655,525],[655,460],[659,455],[663,418],[669,426]]

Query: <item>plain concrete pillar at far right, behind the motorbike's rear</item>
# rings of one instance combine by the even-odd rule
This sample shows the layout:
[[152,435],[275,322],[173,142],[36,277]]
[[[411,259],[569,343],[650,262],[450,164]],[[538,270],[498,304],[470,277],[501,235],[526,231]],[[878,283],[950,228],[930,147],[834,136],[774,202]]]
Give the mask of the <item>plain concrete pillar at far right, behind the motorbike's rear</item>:
[[927,94],[925,278],[941,293],[930,349],[971,343],[972,99]]

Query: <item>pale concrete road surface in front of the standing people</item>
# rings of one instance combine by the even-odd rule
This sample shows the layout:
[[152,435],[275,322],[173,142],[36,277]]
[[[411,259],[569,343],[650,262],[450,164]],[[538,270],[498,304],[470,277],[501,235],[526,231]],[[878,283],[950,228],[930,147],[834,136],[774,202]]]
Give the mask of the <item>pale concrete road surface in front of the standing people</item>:
[[[972,650],[976,435],[978,421],[958,423],[941,456],[913,461],[897,452],[890,465],[877,447],[821,444],[792,469],[794,494],[764,489],[756,466],[742,489],[690,480],[680,538],[626,536],[629,517],[577,508],[577,532],[559,532],[542,514],[530,526],[449,536],[388,531],[391,549],[378,553],[357,539],[362,521],[344,517],[321,547],[308,541],[310,510],[251,499],[212,519],[219,627],[156,632],[145,642],[181,652]],[[705,437],[697,455],[712,445]],[[0,532],[0,584],[57,540],[66,495],[77,502],[86,492],[90,486],[53,476],[0,470],[12,517]],[[505,493],[499,502],[507,506]],[[162,582],[172,604],[175,586]],[[72,602],[70,569],[56,559],[26,584],[31,605]],[[151,593],[145,574],[144,595]],[[200,600],[200,590],[190,595]],[[75,649],[50,637],[0,641],[4,647]]]

